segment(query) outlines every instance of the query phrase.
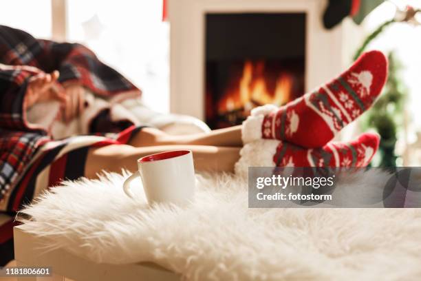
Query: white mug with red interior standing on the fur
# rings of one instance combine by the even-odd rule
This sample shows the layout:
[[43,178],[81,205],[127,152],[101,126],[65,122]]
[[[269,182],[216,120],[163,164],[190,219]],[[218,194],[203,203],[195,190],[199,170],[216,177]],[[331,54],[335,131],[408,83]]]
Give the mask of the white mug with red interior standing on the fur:
[[190,150],[175,150],[144,156],[138,159],[138,171],[123,184],[127,196],[133,198],[130,183],[142,178],[148,203],[169,202],[185,205],[195,195],[195,169]]

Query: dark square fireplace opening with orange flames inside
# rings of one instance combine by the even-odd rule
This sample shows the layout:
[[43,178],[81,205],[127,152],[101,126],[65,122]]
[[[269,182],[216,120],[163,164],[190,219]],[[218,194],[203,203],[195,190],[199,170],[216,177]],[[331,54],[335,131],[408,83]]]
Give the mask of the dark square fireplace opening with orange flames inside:
[[239,125],[252,108],[305,88],[305,14],[206,14],[206,123]]

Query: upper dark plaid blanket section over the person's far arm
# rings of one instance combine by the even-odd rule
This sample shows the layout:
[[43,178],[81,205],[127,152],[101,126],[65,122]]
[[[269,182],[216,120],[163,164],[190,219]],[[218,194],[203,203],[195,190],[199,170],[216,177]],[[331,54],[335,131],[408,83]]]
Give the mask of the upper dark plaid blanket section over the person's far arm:
[[0,63],[30,65],[44,72],[58,70],[61,83],[76,82],[104,97],[128,91],[140,94],[132,83],[98,60],[94,52],[78,43],[56,43],[0,25]]

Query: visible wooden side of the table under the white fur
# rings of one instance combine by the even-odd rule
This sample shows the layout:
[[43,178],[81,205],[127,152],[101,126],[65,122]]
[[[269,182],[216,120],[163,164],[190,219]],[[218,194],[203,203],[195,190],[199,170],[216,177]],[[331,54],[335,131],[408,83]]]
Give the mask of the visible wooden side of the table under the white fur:
[[[18,278],[19,281],[34,280],[74,280],[74,281],[115,281],[115,280],[180,280],[177,273],[164,269],[152,262],[136,264],[98,264],[72,253],[57,249],[40,250],[41,240],[14,227],[14,258],[17,267],[50,267],[53,275],[49,278]],[[43,241],[45,245],[45,240]]]

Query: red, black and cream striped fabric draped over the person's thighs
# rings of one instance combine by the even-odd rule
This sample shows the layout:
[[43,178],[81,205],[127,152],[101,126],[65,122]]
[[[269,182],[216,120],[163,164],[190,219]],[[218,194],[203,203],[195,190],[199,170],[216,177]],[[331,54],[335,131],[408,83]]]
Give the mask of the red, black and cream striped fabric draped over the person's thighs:
[[90,147],[128,143],[142,127],[131,126],[119,134],[105,136],[74,136],[61,141],[49,141],[37,150],[17,178],[13,189],[7,190],[0,201],[0,266],[13,259],[14,215],[32,198],[62,180],[77,180],[83,176]]

